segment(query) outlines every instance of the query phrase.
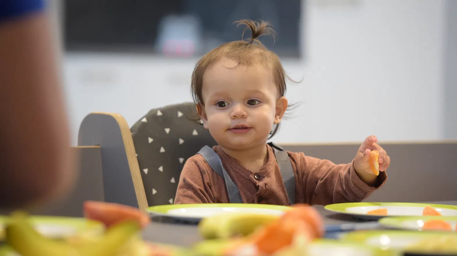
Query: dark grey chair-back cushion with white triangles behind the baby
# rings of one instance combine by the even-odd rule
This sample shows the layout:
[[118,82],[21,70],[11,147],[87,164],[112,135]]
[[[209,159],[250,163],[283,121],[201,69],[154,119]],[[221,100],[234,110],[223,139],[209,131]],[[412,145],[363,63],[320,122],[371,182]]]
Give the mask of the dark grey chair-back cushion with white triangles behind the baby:
[[216,141],[198,118],[194,103],[150,110],[132,128],[148,205],[173,204],[187,158]]

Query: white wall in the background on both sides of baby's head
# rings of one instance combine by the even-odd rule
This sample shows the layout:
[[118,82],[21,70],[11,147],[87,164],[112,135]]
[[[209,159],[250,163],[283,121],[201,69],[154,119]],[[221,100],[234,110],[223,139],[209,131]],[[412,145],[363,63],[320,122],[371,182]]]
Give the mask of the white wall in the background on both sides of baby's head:
[[[330,1],[331,2],[331,1]],[[302,102],[276,142],[443,138],[444,0],[360,0],[303,8],[303,61],[283,60],[287,97]],[[306,32],[306,33],[305,33]],[[197,59],[66,55],[74,142],[91,111],[129,125],[149,109],[190,101]]]

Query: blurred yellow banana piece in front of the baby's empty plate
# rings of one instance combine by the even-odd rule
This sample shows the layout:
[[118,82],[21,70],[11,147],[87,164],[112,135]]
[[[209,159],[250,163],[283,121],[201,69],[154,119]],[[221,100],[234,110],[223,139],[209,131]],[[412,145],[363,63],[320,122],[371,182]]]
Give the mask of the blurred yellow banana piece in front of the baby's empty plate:
[[234,236],[249,235],[260,226],[275,221],[279,217],[253,213],[214,215],[202,219],[198,225],[198,230],[206,239],[228,239]]

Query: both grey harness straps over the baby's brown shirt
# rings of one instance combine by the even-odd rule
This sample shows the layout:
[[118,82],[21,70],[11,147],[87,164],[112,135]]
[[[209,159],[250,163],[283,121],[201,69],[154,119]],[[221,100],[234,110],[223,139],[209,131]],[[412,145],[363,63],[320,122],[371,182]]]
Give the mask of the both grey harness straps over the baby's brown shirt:
[[[295,175],[293,174],[289,155],[282,149],[282,147],[277,146],[273,142],[268,143],[268,145],[270,145],[275,152],[276,162],[278,163],[279,170],[281,171],[282,181],[284,182],[284,187],[286,188],[289,204],[295,204]],[[218,154],[216,154],[216,152],[214,152],[209,146],[202,147],[197,154],[202,155],[213,171],[224,179],[230,203],[243,203],[243,200],[241,200],[241,196],[239,195],[238,187],[233,182],[232,178],[228,176],[228,173],[225,171],[221,158]]]

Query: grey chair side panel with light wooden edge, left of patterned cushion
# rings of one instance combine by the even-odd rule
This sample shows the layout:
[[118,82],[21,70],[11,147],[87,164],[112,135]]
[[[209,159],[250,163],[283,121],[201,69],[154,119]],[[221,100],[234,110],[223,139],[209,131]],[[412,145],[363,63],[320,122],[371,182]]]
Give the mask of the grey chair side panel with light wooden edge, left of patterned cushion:
[[[106,202],[146,210],[148,203],[126,120],[115,113],[90,113],[81,122],[79,146],[99,145]],[[87,170],[84,170],[87,171]]]

